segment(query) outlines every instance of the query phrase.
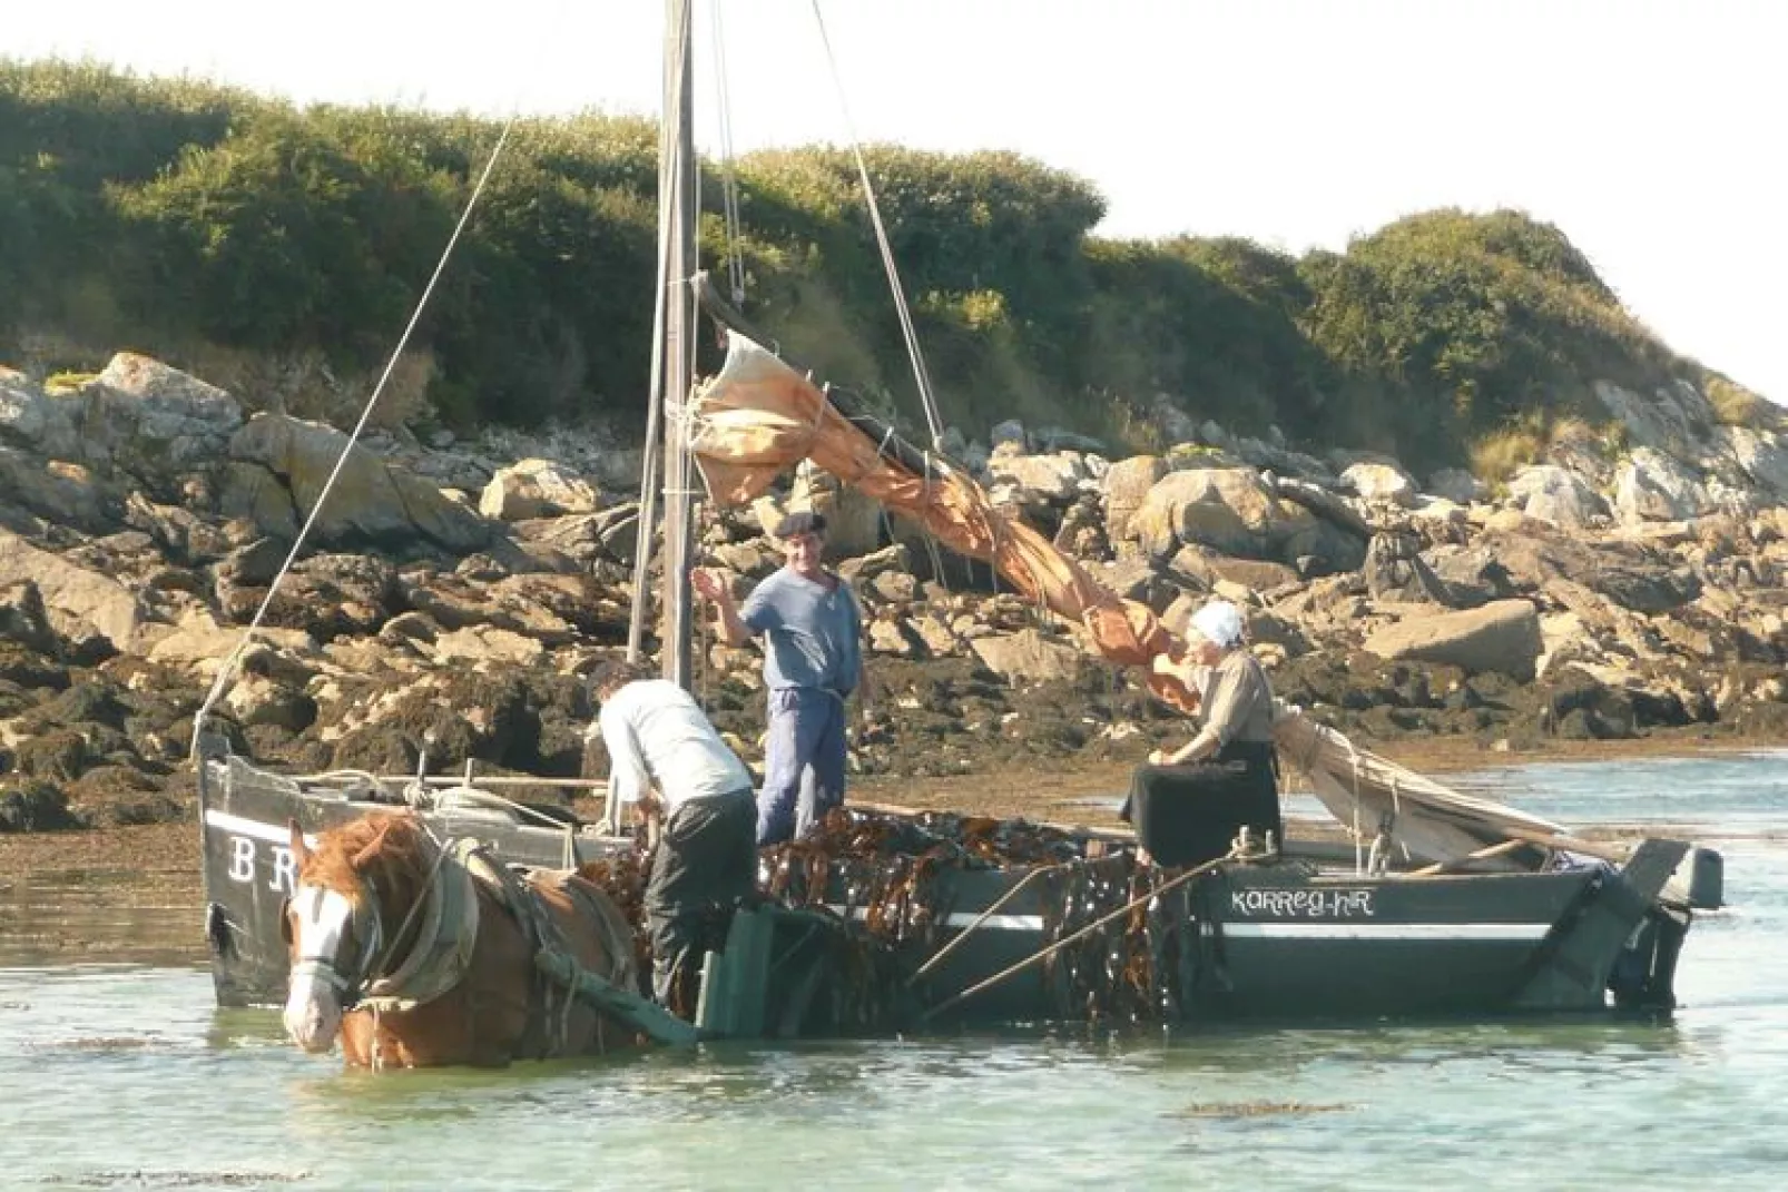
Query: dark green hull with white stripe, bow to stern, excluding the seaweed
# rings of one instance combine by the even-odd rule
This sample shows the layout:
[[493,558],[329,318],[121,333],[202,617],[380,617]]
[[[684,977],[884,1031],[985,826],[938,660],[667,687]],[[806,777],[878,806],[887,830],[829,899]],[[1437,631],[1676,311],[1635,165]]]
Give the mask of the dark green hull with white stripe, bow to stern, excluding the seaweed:
[[[204,885],[220,1004],[284,1001],[279,917],[291,894],[290,822],[315,835],[379,806],[390,804],[320,792],[234,758],[206,763]],[[499,858],[526,865],[563,867],[631,847],[626,838],[527,826],[485,810],[427,811],[424,818],[443,838],[476,836]],[[1668,874],[1683,845],[1674,849],[1654,858],[1652,869]],[[1019,967],[1075,928],[1064,917],[1060,886],[1030,876],[1028,869],[966,869],[933,877],[939,922],[903,945],[907,970],[919,974],[912,978],[919,1003],[932,1008],[928,1022],[1025,1024],[1098,1010],[1085,997],[1085,976],[1110,954],[1101,949],[1116,947],[1121,922]],[[865,919],[867,910],[849,906],[835,874],[824,902]],[[1602,1010],[1622,972],[1629,974],[1625,1001],[1668,1006],[1688,915],[1666,910],[1656,895],[1611,867],[1361,877],[1291,861],[1230,863],[1157,899],[1150,1017]]]

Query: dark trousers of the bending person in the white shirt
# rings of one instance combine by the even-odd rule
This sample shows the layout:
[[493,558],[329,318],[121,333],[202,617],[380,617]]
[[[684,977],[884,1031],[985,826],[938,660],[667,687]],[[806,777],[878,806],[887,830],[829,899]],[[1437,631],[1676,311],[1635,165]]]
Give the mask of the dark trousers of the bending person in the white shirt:
[[738,901],[758,886],[751,788],[685,802],[665,824],[645,879],[653,997],[690,1017],[701,958],[726,945]]

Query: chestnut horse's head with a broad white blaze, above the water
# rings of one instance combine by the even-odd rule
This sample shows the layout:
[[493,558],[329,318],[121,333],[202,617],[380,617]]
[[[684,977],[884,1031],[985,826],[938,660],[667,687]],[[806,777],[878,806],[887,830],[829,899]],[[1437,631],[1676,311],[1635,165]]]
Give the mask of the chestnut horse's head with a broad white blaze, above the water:
[[406,911],[427,886],[427,836],[413,815],[368,815],[324,833],[316,849],[291,824],[297,883],[286,902],[291,960],[286,1035],[306,1051],[334,1045],[342,1015],[379,976]]

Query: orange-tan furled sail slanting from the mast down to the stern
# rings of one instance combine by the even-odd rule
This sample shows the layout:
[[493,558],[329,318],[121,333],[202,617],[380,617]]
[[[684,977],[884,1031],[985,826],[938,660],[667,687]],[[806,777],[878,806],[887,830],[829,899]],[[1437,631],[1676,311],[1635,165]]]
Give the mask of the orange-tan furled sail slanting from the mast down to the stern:
[[[1080,625],[1112,663],[1148,667],[1157,654],[1178,649],[1146,604],[1103,588],[1048,538],[998,508],[958,465],[907,445],[853,409],[848,395],[822,391],[738,331],[728,331],[726,363],[696,391],[685,416],[696,466],[721,504],[746,504],[780,474],[812,459],[951,550],[991,563],[1026,599]],[[1150,670],[1148,686],[1184,711],[1198,706],[1196,693],[1171,676]],[[1557,824],[1461,795],[1355,749],[1296,708],[1282,711],[1275,724],[1282,754],[1311,776],[1328,811],[1364,838],[1382,831],[1411,856],[1445,861],[1511,838],[1563,833]]]

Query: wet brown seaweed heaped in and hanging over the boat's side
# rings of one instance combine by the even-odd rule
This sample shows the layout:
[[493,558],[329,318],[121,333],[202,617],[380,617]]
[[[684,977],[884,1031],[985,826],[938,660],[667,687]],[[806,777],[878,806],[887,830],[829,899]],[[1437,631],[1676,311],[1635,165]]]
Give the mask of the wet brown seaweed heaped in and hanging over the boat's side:
[[[1026,906],[1030,913],[1041,908],[1041,947],[1060,944],[1037,961],[1046,992],[1042,1017],[1050,1020],[1175,1020],[1221,979],[1221,940],[1200,929],[1210,883],[1219,879],[1151,897],[1162,870],[1137,865],[1130,851],[1089,856],[1084,836],[1058,827],[946,811],[839,808],[801,840],[758,854],[769,902],[814,915],[815,924],[853,928],[815,931],[803,945],[824,953],[830,972],[815,994],[824,1003],[815,1020],[831,1031],[908,1026],[962,992],[921,979],[924,963],[958,935],[944,924],[958,910],[948,877],[962,870],[1035,874]],[[642,970],[649,970],[644,854],[595,861],[581,872],[608,890],[635,924]],[[1110,922],[1100,924],[1107,917]],[[973,1017],[973,999],[966,1008]]]

